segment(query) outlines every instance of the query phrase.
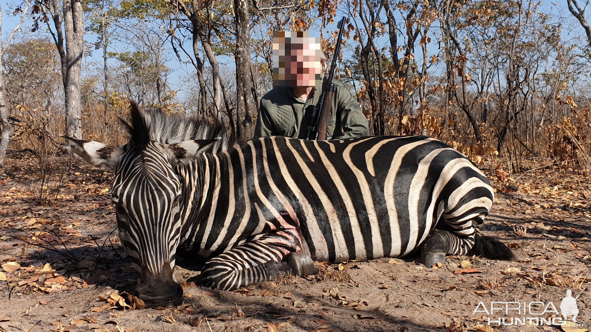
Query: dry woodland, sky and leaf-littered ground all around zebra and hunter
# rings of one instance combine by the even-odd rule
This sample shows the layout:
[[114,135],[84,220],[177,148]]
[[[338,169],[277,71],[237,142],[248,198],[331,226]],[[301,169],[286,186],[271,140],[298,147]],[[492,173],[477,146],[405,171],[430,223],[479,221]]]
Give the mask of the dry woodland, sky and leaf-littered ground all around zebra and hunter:
[[[482,332],[478,302],[558,304],[566,289],[587,289],[577,320],[589,324],[589,1],[2,2],[0,331]],[[131,310],[114,175],[71,158],[59,135],[124,144],[117,117],[132,99],[249,139],[272,87],[272,31],[317,31],[332,57],[343,15],[336,72],[373,134],[429,135],[472,158],[495,190],[482,232],[516,261],[323,262],[225,292],[177,257],[184,304]]]

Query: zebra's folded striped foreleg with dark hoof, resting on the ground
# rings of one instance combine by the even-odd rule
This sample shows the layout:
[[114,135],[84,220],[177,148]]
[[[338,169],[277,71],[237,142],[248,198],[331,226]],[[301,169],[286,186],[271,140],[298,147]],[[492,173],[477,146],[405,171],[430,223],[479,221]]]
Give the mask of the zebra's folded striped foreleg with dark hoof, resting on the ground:
[[309,255],[281,250],[265,242],[249,242],[210,259],[201,274],[206,286],[227,291],[271,281],[283,274],[316,274]]

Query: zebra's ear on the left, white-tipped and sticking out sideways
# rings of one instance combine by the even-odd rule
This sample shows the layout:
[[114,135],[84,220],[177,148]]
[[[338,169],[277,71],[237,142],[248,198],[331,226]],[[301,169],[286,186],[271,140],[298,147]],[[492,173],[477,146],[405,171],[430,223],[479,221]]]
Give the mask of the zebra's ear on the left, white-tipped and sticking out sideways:
[[70,141],[69,149],[84,158],[90,165],[109,168],[114,171],[121,160],[121,148],[112,147],[96,141],[84,141],[61,135]]

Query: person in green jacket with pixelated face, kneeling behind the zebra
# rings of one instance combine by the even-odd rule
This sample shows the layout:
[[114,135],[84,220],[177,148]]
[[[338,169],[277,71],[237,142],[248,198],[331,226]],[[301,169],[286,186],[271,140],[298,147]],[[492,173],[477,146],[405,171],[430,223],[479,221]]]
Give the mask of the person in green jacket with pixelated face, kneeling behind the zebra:
[[[277,31],[273,42],[273,89],[261,99],[254,137],[307,138],[306,109],[318,105],[326,86],[328,67],[320,38],[302,31]],[[340,80],[334,79],[327,139],[369,136],[369,125],[359,104]]]

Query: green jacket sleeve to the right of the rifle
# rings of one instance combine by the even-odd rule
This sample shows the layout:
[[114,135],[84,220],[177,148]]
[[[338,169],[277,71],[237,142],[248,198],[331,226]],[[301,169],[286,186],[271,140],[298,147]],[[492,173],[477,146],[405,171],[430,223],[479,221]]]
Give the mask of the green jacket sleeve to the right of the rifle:
[[[370,136],[368,119],[359,108],[357,100],[353,99],[346,87],[337,90],[337,115],[339,116],[342,136],[332,139],[354,138]],[[336,131],[337,132],[337,131]]]

